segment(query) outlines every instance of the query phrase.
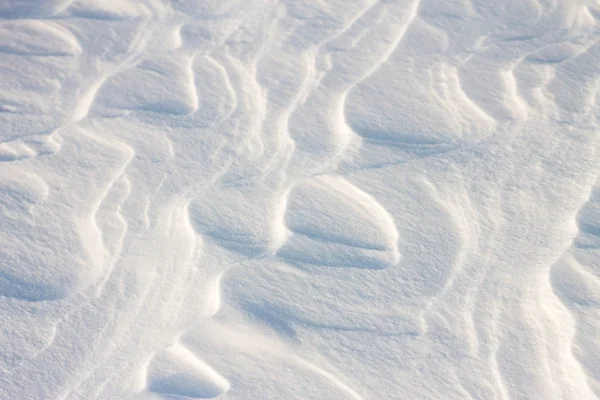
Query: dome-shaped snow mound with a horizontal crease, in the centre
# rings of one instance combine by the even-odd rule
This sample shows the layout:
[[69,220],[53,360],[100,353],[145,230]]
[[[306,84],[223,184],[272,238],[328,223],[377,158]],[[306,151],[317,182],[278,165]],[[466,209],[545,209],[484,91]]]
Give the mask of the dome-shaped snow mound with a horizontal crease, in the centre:
[[384,269],[400,260],[389,213],[345,179],[317,176],[294,185],[284,214],[291,237],[284,259],[316,265]]

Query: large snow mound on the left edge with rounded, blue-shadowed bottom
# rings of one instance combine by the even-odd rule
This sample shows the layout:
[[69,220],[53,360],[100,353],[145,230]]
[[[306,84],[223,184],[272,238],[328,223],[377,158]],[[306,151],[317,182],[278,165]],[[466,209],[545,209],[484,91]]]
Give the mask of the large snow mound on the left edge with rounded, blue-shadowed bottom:
[[[73,127],[58,134],[60,154],[65,158],[23,160],[25,179],[16,189],[31,190],[27,188],[32,182],[42,180],[44,194],[32,199],[30,206],[5,208],[3,223],[9,225],[2,229],[2,235],[16,229],[15,218],[22,223],[21,235],[4,238],[10,249],[0,267],[4,296],[30,301],[66,298],[92,284],[106,268],[107,249],[95,216],[131,159],[131,149]],[[86,162],[75,162],[66,172],[65,163],[78,157],[86,157]],[[39,220],[44,224],[39,225]],[[29,248],[32,242],[36,245]]]

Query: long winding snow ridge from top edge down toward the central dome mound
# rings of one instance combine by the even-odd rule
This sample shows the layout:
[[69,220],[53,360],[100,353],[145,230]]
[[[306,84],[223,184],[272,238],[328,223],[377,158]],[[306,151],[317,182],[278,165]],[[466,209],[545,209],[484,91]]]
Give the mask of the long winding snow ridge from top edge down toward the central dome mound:
[[[417,15],[419,1],[374,2],[350,23],[316,46],[314,89],[290,118],[296,151],[293,162],[307,166],[316,159],[325,166],[339,164],[361,138],[346,121],[348,94],[384,65]],[[322,173],[309,165],[312,173]],[[330,167],[331,168],[331,167]]]

